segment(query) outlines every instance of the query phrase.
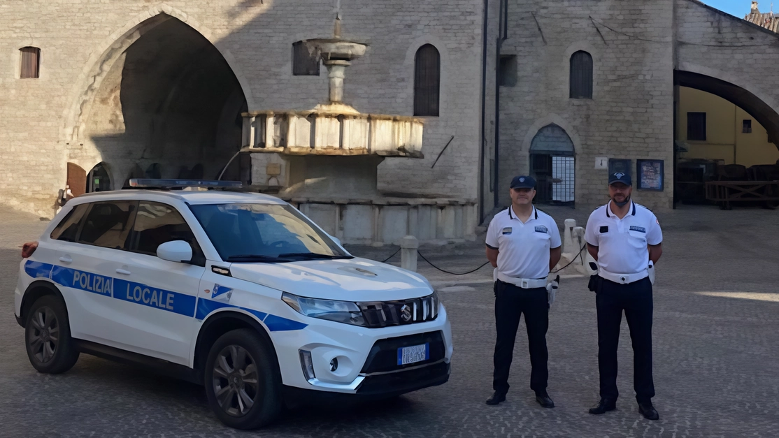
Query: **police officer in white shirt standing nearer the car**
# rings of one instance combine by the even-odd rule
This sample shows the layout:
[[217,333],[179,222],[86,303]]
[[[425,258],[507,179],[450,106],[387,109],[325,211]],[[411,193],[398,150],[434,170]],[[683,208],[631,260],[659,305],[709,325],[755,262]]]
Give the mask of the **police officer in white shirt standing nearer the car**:
[[530,389],[544,408],[554,408],[547,394],[546,331],[553,295],[547,293],[549,271],[560,261],[560,233],[552,216],[533,206],[536,194],[532,177],[515,177],[509,190],[511,206],[492,219],[487,230],[487,258],[496,268],[495,281],[495,394],[487,400],[497,405],[509,391],[509,368],[520,315],[525,315],[530,347]]

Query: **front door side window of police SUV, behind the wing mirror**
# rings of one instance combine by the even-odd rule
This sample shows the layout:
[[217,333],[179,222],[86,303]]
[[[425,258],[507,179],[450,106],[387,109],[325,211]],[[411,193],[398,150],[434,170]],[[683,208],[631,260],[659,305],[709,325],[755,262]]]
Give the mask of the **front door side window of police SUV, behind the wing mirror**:
[[171,240],[184,240],[192,246],[193,254],[199,253],[199,246],[189,225],[170,205],[139,201],[133,231],[133,251],[157,255],[157,247],[161,244]]

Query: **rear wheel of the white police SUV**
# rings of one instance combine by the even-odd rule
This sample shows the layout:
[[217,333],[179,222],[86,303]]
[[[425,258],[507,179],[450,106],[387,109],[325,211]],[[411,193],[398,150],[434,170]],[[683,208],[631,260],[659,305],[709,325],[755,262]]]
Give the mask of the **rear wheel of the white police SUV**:
[[24,345],[33,368],[57,374],[76,365],[79,352],[70,337],[68,311],[57,296],[41,296],[35,301],[24,327]]

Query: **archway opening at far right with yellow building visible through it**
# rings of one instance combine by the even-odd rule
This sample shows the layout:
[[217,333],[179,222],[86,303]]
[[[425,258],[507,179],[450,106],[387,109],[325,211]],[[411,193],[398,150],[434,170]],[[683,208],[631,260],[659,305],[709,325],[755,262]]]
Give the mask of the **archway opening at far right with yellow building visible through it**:
[[[675,71],[674,202],[712,203],[742,193],[738,186],[779,179],[779,114],[754,93],[731,82]],[[714,194],[714,191],[721,191]],[[776,187],[760,187],[760,194]]]

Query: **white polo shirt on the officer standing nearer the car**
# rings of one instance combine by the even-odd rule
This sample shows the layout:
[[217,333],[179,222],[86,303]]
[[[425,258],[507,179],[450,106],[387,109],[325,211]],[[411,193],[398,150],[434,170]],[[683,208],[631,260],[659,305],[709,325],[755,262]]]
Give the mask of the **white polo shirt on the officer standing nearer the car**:
[[492,218],[487,246],[498,250],[498,272],[518,279],[549,275],[549,248],[562,245],[555,219],[535,207],[526,223],[509,206]]

